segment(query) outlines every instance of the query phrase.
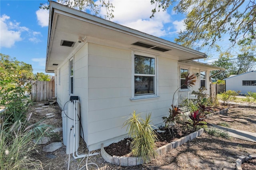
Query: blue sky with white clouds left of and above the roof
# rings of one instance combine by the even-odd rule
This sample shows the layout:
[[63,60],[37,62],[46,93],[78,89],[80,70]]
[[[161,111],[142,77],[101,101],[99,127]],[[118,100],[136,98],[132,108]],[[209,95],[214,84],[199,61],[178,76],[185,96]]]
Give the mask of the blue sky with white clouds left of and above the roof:
[[[16,57],[31,64],[34,73],[44,72],[48,38],[47,10],[39,8],[47,0],[0,0],[0,53]],[[174,42],[177,32],[184,30],[185,16],[176,14],[172,7],[157,12],[150,19],[154,8],[150,0],[111,0],[115,6],[111,21]],[[105,15],[100,11],[100,16]],[[202,52],[203,49],[201,50]],[[209,61],[208,61],[209,62]]]

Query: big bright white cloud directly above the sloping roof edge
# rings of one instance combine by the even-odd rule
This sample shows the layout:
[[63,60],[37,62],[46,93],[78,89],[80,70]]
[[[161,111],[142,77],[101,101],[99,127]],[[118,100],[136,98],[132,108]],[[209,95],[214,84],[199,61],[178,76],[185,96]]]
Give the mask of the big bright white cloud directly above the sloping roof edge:
[[[168,34],[168,28],[164,28],[164,24],[171,22],[170,14],[167,11],[160,11],[150,18],[151,10],[154,8],[150,0],[111,0],[110,2],[115,7],[114,18],[111,21],[153,36]],[[106,10],[102,8],[100,14],[106,15]]]

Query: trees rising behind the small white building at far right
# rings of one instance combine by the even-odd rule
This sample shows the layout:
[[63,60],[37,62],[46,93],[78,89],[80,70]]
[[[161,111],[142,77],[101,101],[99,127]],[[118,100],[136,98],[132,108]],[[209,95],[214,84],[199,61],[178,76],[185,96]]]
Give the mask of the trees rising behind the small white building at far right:
[[[220,74],[214,76],[214,78],[223,80],[224,78],[229,77],[230,75],[238,75],[252,71],[256,67],[256,58],[252,53],[243,53],[237,56],[237,59],[232,59],[231,56],[227,53],[226,55],[220,57],[212,65],[225,68],[225,71],[222,71]],[[215,74],[218,71],[212,71],[211,74]]]

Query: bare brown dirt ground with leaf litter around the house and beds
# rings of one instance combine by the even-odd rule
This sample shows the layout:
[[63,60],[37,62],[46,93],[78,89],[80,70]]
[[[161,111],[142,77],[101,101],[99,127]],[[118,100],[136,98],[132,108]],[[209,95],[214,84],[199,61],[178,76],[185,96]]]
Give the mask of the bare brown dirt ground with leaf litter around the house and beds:
[[[36,103],[35,105],[32,105],[29,109],[28,114],[32,113],[32,122],[42,120],[47,125],[62,127],[61,109],[58,105],[50,105],[49,107],[38,109],[38,107],[42,107],[38,104],[43,104],[43,102]],[[47,113],[54,113],[55,116],[52,118],[46,118]],[[245,128],[246,125],[238,122],[232,123],[232,128],[238,128],[240,130],[248,129],[251,131],[253,129],[255,132],[255,110],[235,108],[230,110],[228,114],[232,117],[240,117],[239,115],[241,115],[246,120],[252,120],[250,121],[250,125],[248,126],[248,128]],[[209,121],[215,123],[220,121],[220,119],[218,116],[214,116],[212,120]],[[62,131],[60,131],[52,135],[50,142],[62,141]],[[47,144],[50,144],[50,142]],[[42,151],[42,148],[47,144],[38,145],[38,153],[33,154],[33,156],[36,159],[42,161],[45,170],[67,169],[68,155],[66,155],[66,146],[62,144],[61,148],[49,153]],[[82,140],[80,140],[79,152],[81,154],[88,152],[87,150],[83,149],[83,144],[84,143],[82,142]],[[100,150],[96,150],[94,152],[100,152]],[[152,160],[150,163],[145,165],[133,167],[116,166],[105,162],[100,154],[90,156],[88,158],[88,163],[94,162],[98,164],[100,170],[234,170],[236,159],[241,155],[248,156],[249,154],[256,154],[256,143],[239,140],[236,138],[227,140],[223,138],[209,136],[208,134],[202,134],[202,136],[171,150],[165,155],[159,156],[158,158]],[[81,159],[74,159],[72,156],[70,156],[70,170],[77,169],[80,161]],[[82,166],[85,165],[85,162],[85,160],[82,162]],[[96,169],[96,167],[88,165],[88,169]]]

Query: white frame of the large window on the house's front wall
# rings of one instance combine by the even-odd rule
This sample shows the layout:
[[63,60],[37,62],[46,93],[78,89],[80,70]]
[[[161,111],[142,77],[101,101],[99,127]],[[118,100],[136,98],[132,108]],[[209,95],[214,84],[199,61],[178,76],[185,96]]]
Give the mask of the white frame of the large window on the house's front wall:
[[[135,70],[134,70],[135,69],[135,67],[134,67],[135,55],[141,55],[144,57],[151,57],[151,58],[155,59],[155,73],[154,73],[154,76],[152,76],[152,77],[154,77],[154,94],[135,95],[134,76],[148,76],[148,74],[135,73]],[[159,98],[159,95],[158,95],[158,57],[156,55],[132,51],[132,81],[131,81],[131,83],[132,83],[132,97],[130,98],[131,101]]]

